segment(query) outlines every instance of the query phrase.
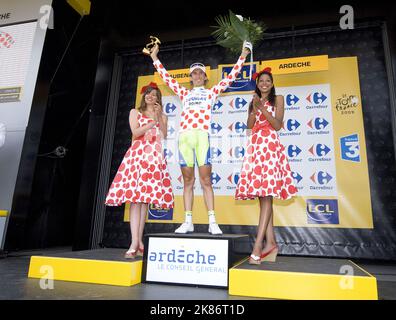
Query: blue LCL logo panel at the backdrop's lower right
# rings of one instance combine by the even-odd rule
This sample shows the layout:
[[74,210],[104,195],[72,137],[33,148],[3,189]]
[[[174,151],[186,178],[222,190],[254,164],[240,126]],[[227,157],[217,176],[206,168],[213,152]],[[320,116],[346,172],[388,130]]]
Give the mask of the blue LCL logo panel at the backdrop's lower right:
[[336,199],[307,199],[308,224],[339,224]]

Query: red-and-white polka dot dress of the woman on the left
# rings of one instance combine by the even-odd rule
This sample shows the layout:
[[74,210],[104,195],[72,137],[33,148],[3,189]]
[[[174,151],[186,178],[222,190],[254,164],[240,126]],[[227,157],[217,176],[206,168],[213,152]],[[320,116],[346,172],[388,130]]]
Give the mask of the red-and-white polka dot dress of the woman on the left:
[[[139,126],[153,119],[138,112]],[[132,141],[118,168],[106,197],[106,205],[125,202],[148,203],[158,208],[173,208],[173,190],[162,151],[159,125]]]

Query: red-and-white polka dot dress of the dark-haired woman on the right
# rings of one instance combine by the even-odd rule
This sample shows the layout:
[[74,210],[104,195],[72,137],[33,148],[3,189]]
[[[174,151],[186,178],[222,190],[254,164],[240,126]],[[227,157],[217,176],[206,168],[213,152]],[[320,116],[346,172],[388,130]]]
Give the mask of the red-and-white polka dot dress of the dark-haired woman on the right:
[[[268,101],[265,106],[275,117],[275,108]],[[259,110],[252,134],[248,138],[235,199],[252,200],[273,196],[286,200],[296,192],[285,147],[276,130]]]

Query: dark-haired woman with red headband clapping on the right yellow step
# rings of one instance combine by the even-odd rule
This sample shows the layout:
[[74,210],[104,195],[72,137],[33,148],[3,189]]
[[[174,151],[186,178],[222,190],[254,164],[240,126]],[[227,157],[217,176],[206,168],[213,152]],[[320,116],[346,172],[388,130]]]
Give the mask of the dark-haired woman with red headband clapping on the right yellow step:
[[235,199],[259,198],[260,219],[249,263],[260,264],[261,261],[275,261],[278,253],[273,230],[273,198],[290,199],[297,189],[293,184],[285,147],[277,133],[283,124],[283,96],[275,94],[270,68],[255,73],[253,79],[256,80],[256,89],[247,121],[252,134],[248,138]]

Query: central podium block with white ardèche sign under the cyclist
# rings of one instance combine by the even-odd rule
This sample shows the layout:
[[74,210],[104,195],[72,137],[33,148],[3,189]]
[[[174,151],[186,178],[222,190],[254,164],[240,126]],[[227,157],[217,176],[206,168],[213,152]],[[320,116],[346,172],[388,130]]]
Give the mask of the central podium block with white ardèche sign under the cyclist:
[[248,235],[155,233],[145,236],[142,281],[228,288],[229,269],[246,258],[238,242]]

